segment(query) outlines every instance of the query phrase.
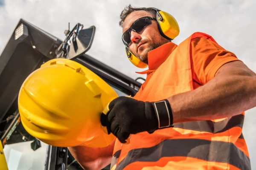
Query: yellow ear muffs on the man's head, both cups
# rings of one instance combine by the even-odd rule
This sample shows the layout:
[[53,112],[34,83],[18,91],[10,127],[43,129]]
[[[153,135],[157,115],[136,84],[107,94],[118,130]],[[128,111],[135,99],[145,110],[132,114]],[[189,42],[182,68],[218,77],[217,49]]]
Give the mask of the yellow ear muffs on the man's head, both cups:
[[[173,40],[180,33],[180,28],[175,18],[165,11],[161,11],[157,8],[152,8],[157,11],[157,26],[160,34],[169,39]],[[148,65],[140,59],[138,59],[128,47],[125,47],[125,52],[131,63],[138,68],[146,68]]]

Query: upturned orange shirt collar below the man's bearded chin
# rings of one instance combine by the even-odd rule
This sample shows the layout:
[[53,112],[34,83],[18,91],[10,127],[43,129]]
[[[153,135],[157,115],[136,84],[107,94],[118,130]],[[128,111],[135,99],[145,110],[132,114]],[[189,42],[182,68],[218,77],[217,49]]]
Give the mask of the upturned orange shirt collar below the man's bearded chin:
[[148,70],[136,72],[138,74],[147,74],[156,70],[177,47],[173,42],[167,42],[154,50],[148,52]]

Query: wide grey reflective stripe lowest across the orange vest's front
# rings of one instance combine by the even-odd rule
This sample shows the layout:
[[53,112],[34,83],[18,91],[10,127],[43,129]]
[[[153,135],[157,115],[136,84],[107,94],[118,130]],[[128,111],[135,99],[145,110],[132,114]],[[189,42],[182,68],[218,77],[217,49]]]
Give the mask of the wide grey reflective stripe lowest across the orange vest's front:
[[143,161],[158,161],[162,157],[172,156],[223,162],[250,170],[250,159],[233,143],[202,139],[167,139],[153,147],[130,150],[116,170],[122,170],[132,162],[142,161],[143,164]]

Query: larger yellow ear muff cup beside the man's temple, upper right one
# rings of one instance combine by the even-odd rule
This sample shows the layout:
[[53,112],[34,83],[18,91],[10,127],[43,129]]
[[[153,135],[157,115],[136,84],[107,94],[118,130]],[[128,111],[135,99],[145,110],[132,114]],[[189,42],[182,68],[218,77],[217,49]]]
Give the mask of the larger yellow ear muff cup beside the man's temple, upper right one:
[[159,20],[160,16],[157,14],[157,22],[159,24],[159,31],[161,34],[163,34],[164,37],[168,37],[169,39],[174,39],[177,37],[180,33],[180,28],[175,18],[165,11],[158,11],[158,13],[162,17],[162,20]]

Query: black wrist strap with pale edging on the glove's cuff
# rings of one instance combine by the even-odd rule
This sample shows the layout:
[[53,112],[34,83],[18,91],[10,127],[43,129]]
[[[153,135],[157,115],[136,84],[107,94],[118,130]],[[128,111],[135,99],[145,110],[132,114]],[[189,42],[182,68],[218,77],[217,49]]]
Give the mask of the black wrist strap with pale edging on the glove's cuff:
[[173,124],[172,109],[167,99],[154,103],[154,110],[158,119],[158,128],[171,127]]

